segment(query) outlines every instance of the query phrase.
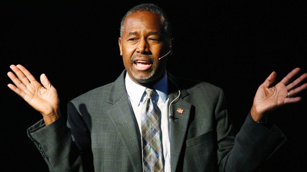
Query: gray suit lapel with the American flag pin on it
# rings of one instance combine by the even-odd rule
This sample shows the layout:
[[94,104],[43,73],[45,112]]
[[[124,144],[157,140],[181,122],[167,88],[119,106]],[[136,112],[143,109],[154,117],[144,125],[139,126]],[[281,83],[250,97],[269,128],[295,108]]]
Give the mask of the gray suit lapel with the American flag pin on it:
[[[180,97],[177,98],[171,104],[171,115],[178,119],[171,119],[170,122],[170,142],[171,142],[171,171],[176,171],[176,167],[178,164],[179,155],[182,150],[182,145],[184,142],[184,137],[186,135],[188,121],[190,117],[190,111],[192,104],[183,100],[185,96],[188,95],[188,92],[181,86],[182,84],[173,76],[171,73],[167,71],[168,85],[169,85],[169,103],[171,103],[175,98],[179,95],[178,88],[180,90]],[[175,82],[175,84],[171,81]],[[180,108],[183,109],[182,113],[176,112],[176,110]]]

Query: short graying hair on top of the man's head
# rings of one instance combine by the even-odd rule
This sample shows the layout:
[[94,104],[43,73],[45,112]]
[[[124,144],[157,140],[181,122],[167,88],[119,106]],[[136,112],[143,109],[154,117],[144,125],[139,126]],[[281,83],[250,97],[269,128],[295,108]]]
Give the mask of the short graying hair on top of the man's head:
[[157,13],[157,14],[160,14],[161,17],[162,17],[162,23],[163,23],[163,28],[164,28],[164,33],[163,34],[166,34],[166,36],[168,36],[169,38],[172,37],[172,28],[171,28],[171,21],[169,20],[168,18],[168,15],[166,14],[166,12],[158,7],[157,5],[155,4],[152,4],[152,3],[143,3],[143,4],[140,4],[140,5],[137,5],[137,6],[134,6],[133,8],[131,8],[126,14],[125,16],[122,18],[122,21],[120,22],[120,38],[123,39],[123,28],[124,28],[124,20],[125,18],[129,15],[129,14],[132,14],[132,13],[135,13],[135,12],[138,12],[138,11],[150,11],[152,13]]

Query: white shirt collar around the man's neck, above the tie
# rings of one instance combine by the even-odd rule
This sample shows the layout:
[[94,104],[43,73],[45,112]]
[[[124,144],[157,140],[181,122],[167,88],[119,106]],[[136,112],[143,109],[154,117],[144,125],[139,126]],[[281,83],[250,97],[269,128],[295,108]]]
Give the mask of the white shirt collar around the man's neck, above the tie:
[[[159,97],[161,97],[163,103],[165,103],[167,99],[167,84],[167,73],[165,71],[163,78],[153,86]],[[133,101],[133,103],[139,106],[146,87],[136,84],[133,80],[131,80],[131,78],[128,76],[128,72],[126,72],[125,85],[128,96]]]

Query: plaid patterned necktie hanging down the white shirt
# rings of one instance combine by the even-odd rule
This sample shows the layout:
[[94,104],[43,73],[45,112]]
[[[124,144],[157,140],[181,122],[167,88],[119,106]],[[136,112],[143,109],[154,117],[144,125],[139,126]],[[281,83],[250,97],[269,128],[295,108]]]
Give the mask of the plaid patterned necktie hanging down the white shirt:
[[145,92],[141,110],[143,172],[164,172],[159,110],[152,100],[154,89],[146,88]]

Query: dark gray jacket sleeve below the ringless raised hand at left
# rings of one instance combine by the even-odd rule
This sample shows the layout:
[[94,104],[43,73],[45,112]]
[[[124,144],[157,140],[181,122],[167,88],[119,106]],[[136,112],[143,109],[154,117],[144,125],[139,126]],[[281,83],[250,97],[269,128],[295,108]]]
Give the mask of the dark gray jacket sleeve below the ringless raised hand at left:
[[67,104],[67,121],[60,115],[46,126],[41,119],[27,134],[51,172],[93,171],[89,131],[73,103]]

